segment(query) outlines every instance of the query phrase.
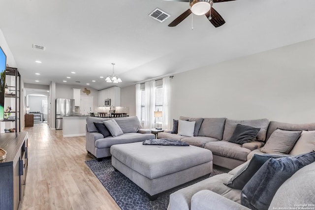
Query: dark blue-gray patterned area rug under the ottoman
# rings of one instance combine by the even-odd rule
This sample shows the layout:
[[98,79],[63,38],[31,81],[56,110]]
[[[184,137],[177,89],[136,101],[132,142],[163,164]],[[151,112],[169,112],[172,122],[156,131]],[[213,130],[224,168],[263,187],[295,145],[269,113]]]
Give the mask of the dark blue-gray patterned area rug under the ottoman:
[[[150,201],[143,189],[126,178],[122,173],[114,171],[110,158],[103,159],[101,162],[97,162],[96,159],[88,160],[86,164],[122,210],[166,210],[171,193],[208,178],[205,176],[190,181],[160,194],[157,200]],[[210,177],[221,173],[224,172],[214,168]]]

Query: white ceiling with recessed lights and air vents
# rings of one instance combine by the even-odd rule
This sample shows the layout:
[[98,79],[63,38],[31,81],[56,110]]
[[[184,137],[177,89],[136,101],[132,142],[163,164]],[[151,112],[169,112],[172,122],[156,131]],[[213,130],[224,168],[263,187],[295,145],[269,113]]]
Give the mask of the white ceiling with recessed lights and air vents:
[[[205,16],[194,15],[193,30],[192,15],[177,27],[167,27],[188,9],[187,2],[1,0],[0,4],[0,29],[24,82],[31,84],[80,81],[102,90],[113,86],[99,77],[112,73],[115,62],[115,74],[123,80],[119,86],[126,87],[315,38],[315,0],[214,3],[226,23],[215,28]],[[150,18],[157,7],[171,17],[163,23]],[[32,44],[46,50],[34,50]]]

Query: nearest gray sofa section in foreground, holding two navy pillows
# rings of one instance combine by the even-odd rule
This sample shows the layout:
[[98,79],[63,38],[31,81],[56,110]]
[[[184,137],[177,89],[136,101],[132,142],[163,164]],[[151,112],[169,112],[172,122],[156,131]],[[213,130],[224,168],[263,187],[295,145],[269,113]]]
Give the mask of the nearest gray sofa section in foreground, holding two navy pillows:
[[[229,173],[213,176],[172,193],[167,210],[250,210],[241,205],[242,190],[223,184],[230,180],[242,166]],[[310,210],[314,210],[314,173],[315,162],[301,168],[284,181],[273,197],[268,210],[298,209],[298,207],[300,209],[309,207]]]

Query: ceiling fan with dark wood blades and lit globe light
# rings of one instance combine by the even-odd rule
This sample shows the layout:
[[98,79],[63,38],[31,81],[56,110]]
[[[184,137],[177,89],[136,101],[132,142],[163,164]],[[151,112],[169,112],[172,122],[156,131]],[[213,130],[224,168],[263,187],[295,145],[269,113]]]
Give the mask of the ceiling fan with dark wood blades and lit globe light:
[[222,26],[225,21],[221,17],[221,15],[212,7],[213,3],[224,2],[224,1],[232,1],[232,0],[168,0],[168,1],[183,1],[189,2],[189,9],[186,10],[183,14],[178,16],[172,23],[170,23],[169,27],[177,26],[181,23],[185,18],[187,18],[191,13],[195,15],[205,15],[208,20],[214,25],[214,27]]

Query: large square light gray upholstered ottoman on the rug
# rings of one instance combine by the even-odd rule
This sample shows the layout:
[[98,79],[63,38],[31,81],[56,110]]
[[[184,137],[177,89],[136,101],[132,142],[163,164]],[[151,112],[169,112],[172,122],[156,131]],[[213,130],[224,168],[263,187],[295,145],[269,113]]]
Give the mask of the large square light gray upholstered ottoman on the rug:
[[113,145],[112,165],[147,192],[158,193],[212,172],[212,152],[188,146],[142,145],[142,142]]

